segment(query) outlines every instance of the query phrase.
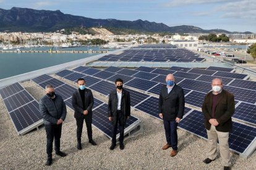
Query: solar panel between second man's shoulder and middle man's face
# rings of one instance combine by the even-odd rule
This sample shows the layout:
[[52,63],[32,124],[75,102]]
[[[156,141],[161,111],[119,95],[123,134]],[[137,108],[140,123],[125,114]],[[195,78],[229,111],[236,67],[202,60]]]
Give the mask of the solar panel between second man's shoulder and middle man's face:
[[116,89],[116,86],[114,85],[114,83],[108,83],[106,81],[100,81],[100,82],[90,86],[90,89],[93,89],[96,92],[100,92],[101,94],[108,95],[109,92]]

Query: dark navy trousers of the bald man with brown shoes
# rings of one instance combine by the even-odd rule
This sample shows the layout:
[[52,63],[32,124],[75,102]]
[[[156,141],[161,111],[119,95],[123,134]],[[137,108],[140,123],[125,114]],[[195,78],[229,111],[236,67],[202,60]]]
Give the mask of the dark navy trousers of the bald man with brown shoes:
[[176,121],[163,120],[166,141],[173,150],[177,150],[177,123]]

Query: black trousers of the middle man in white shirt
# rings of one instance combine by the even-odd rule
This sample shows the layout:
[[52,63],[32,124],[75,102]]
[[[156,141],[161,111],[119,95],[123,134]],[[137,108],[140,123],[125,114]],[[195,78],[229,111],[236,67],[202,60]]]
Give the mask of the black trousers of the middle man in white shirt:
[[[122,111],[117,110],[117,115],[116,115],[116,124],[113,124],[113,135],[112,135],[112,144],[116,144],[116,133],[117,133],[117,125],[119,124],[119,143],[123,143],[124,142],[124,124],[122,123],[123,118],[122,118]],[[120,123],[121,122],[121,123]]]

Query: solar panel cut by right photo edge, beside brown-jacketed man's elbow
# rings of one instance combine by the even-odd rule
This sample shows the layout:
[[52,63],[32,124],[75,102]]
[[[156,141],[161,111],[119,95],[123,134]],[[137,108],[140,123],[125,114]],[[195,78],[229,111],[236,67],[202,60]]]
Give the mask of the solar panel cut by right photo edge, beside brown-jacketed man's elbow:
[[256,105],[241,102],[236,107],[233,118],[256,125]]

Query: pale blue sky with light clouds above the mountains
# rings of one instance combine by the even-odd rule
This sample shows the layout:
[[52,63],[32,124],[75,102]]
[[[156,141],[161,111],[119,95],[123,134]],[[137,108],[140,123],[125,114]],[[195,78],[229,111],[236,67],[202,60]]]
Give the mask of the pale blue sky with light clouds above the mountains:
[[256,33],[255,0],[0,0],[0,8],[61,10],[88,18],[148,20],[168,26],[193,25]]

